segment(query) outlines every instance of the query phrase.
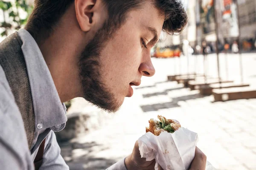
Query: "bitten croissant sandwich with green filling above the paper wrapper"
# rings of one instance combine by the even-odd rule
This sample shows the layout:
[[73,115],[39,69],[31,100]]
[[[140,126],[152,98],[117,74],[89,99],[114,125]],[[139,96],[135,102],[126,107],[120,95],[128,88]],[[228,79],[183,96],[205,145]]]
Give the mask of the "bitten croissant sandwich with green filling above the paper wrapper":
[[161,132],[167,131],[169,133],[174,133],[181,126],[179,122],[176,122],[172,119],[166,119],[164,116],[157,115],[157,118],[160,120],[150,119],[149,127],[146,127],[146,132],[151,132],[155,136],[159,136]]

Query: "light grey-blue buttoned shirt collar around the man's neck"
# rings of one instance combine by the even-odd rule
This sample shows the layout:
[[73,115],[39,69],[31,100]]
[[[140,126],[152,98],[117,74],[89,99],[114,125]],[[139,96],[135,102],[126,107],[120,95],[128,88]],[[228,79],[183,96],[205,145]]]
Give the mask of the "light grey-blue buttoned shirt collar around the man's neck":
[[[34,38],[25,29],[18,31],[26,61],[35,113],[35,125],[62,130],[67,122],[66,107],[58,96],[52,76]],[[38,126],[40,125],[40,126]]]

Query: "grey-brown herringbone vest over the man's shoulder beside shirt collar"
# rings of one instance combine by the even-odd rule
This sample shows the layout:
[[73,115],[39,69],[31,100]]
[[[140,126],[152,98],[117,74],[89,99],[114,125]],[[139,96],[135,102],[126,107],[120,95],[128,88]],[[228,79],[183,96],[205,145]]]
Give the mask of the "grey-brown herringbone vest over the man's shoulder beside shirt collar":
[[12,89],[15,102],[20,110],[29,150],[35,135],[35,114],[26,62],[21,49],[22,41],[17,32],[0,43],[0,65]]

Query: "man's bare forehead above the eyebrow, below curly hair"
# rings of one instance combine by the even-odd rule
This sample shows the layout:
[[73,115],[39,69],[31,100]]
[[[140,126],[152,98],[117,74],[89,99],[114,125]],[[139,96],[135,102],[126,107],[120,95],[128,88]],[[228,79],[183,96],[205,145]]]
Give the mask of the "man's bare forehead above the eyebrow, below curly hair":
[[151,27],[157,30],[158,37],[163,28],[164,15],[159,11],[153,1],[146,0],[140,8],[128,12],[128,20],[134,21],[134,26],[140,28]]

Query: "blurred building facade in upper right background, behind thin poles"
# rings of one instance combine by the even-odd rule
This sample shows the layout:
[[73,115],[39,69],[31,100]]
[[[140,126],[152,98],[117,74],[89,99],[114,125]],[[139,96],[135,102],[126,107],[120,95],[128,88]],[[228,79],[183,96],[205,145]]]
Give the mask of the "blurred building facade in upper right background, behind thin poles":
[[215,9],[213,3],[214,0],[189,1],[187,8],[189,23],[187,31],[183,33],[183,39],[187,38],[192,47],[201,45],[201,42],[206,40],[214,51],[216,27],[219,48],[221,48],[226,43],[232,44],[237,41],[240,23],[243,44],[253,47],[256,41],[256,0],[238,0],[238,7],[235,0],[215,0]]

